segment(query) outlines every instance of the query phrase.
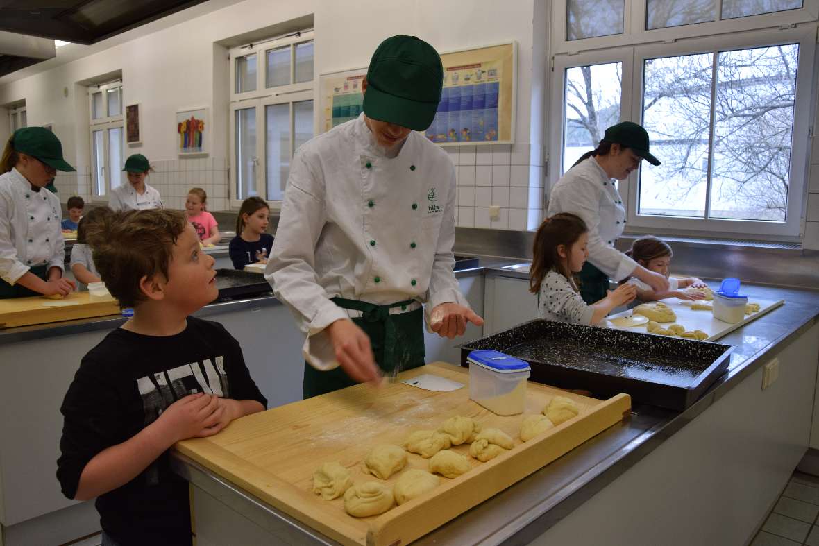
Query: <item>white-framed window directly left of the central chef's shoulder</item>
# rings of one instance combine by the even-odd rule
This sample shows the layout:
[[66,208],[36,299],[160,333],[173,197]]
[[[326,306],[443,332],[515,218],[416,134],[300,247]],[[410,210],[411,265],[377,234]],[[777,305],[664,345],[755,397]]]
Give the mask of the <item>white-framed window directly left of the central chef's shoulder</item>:
[[237,47],[230,59],[232,205],[282,201],[292,156],[313,138],[312,33]]

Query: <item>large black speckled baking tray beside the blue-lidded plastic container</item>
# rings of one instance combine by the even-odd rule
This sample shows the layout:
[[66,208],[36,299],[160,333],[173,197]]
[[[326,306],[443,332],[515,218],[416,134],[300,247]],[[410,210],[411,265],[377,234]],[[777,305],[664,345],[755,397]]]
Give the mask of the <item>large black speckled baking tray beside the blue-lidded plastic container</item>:
[[461,366],[476,349],[494,349],[532,366],[532,381],[590,390],[601,398],[624,392],[640,404],[683,410],[730,363],[731,345],[611,328],[533,320],[461,346]]

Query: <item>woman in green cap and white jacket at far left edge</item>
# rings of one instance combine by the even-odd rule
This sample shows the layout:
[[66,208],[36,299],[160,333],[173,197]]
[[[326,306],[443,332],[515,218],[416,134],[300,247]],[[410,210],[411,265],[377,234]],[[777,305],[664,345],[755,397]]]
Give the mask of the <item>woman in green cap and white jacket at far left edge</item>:
[[0,298],[61,297],[75,288],[62,278],[60,200],[44,189],[58,170],[75,168],[54,133],[25,127],[11,135],[0,159]]

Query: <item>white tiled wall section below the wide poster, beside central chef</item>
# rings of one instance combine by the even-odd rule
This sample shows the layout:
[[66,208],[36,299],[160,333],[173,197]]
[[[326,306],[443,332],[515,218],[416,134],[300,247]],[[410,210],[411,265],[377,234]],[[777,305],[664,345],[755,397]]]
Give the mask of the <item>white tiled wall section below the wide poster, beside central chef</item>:
[[[534,229],[543,218],[544,170],[528,143],[446,147],[458,179],[455,222],[462,228]],[[489,207],[500,207],[490,219]]]

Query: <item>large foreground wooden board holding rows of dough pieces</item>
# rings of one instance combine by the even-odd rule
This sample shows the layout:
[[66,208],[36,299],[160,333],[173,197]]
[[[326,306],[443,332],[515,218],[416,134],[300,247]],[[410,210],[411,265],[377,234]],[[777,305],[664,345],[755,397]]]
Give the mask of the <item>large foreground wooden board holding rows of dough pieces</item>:
[[[602,401],[529,382],[526,412],[499,417],[469,399],[466,368],[435,363],[399,378],[422,373],[447,377],[464,387],[434,392],[400,382],[380,389],[352,386],[243,417],[217,435],[185,440],[175,449],[331,539],[386,546],[426,535],[619,422],[631,409],[628,395]],[[522,443],[518,432],[523,417],[540,413],[554,395],[576,400],[581,414]],[[487,463],[470,458],[470,472],[452,480],[441,477],[436,490],[380,516],[351,517],[343,499],[325,501],[312,493],[313,471],[321,463],[342,463],[355,483],[376,480],[360,470],[375,444],[402,444],[410,432],[437,428],[455,415],[473,417],[484,428],[500,428],[515,439],[514,449]],[[468,444],[453,449],[468,456]],[[426,470],[428,459],[409,453],[405,470],[409,468]],[[400,472],[387,482],[394,483],[398,476]]]

